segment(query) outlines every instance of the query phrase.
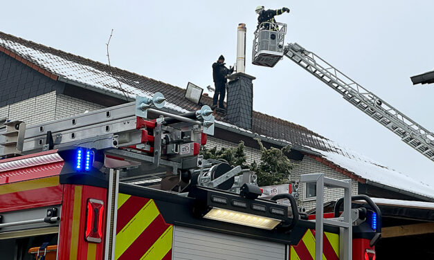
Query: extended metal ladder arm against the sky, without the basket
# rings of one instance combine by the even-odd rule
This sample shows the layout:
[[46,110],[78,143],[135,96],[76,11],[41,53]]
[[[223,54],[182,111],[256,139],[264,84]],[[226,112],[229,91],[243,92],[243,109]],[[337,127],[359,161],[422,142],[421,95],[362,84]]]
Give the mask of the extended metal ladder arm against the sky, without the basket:
[[285,46],[284,55],[341,94],[350,104],[397,134],[407,145],[434,162],[434,133],[417,124],[404,113],[390,106],[380,97],[302,46],[296,43],[288,44]]

